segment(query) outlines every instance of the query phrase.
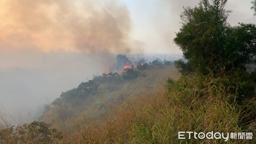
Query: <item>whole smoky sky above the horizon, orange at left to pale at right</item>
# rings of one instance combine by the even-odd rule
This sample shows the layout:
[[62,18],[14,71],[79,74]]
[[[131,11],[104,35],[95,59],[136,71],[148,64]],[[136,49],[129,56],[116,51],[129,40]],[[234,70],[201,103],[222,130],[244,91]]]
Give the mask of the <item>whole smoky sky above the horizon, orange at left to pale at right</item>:
[[[255,22],[251,0],[229,0],[229,22]],[[0,51],[181,53],[182,6],[198,0],[1,0]]]

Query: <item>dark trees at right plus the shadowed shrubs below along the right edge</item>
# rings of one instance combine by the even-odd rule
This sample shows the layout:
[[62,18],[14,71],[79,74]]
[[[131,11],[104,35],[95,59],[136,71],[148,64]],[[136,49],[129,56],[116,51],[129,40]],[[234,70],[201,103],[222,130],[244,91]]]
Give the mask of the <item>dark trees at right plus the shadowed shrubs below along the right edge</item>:
[[248,124],[256,118],[256,25],[230,26],[226,3],[201,0],[193,9],[184,8],[183,25],[174,41],[188,62],[177,61],[175,66],[183,75],[197,71],[220,78],[226,91],[234,95],[229,104],[236,102],[243,109],[240,120]]

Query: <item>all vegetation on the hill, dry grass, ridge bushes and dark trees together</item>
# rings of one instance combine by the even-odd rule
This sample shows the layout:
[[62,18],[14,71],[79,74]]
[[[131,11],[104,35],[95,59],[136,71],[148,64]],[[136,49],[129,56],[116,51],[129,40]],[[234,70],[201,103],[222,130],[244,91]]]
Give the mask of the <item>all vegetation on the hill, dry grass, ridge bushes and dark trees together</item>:
[[[96,76],[46,105],[40,119],[56,129],[39,121],[2,128],[0,142],[256,143],[256,26],[230,26],[226,3],[184,8],[174,41],[187,62],[134,64],[117,55],[120,74]],[[178,139],[179,131],[253,132],[253,139]]]

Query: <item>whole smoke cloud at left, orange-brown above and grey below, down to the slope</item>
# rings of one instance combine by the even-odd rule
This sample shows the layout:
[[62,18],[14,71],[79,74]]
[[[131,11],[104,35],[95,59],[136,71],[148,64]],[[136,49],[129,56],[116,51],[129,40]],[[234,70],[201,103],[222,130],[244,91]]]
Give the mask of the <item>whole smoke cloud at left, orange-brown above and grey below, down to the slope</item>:
[[141,45],[116,0],[0,0],[0,9],[0,105],[22,115]]

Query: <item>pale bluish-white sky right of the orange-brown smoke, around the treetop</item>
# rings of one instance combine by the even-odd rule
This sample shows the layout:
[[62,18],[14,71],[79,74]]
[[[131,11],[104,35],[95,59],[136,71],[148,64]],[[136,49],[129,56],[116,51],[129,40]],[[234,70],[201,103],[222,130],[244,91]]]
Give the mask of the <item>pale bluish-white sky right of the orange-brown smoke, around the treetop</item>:
[[[195,7],[199,0],[122,0],[126,3],[133,24],[132,36],[144,43],[144,52],[181,53],[173,43],[180,29],[183,6]],[[228,0],[226,9],[233,12],[228,18],[231,25],[239,22],[255,23],[251,0]]]

